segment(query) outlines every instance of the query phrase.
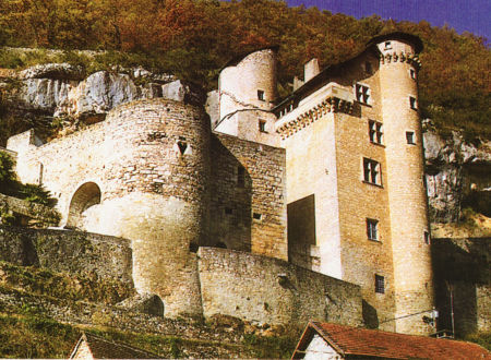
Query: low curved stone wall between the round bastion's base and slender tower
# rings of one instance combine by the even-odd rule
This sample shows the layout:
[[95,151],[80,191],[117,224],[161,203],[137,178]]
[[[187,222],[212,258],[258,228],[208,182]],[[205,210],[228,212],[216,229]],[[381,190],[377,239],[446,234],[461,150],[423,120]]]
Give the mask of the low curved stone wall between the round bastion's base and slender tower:
[[200,248],[197,254],[205,317],[219,313],[268,324],[362,322],[357,285],[251,253]]

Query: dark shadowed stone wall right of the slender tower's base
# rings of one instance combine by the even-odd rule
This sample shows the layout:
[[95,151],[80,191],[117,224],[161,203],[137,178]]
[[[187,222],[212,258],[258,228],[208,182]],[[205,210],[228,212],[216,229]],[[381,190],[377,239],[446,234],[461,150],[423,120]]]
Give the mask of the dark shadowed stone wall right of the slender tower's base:
[[[491,238],[432,239],[439,329],[491,331]],[[453,301],[453,309],[451,307]]]

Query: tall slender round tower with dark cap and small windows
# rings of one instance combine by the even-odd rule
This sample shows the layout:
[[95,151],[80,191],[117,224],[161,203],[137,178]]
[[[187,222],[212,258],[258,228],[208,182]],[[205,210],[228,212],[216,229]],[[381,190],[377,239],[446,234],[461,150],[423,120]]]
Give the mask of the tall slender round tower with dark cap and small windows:
[[[429,334],[422,320],[433,308],[428,200],[424,187],[421,122],[418,111],[418,53],[421,40],[393,33],[371,41],[380,50],[386,183],[394,256],[395,328]],[[428,313],[424,313],[428,311]]]

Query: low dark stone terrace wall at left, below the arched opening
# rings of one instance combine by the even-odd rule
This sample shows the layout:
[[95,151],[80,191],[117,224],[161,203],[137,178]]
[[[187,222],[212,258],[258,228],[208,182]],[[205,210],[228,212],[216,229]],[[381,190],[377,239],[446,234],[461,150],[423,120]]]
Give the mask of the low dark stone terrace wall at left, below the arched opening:
[[130,241],[89,232],[0,227],[0,260],[133,286]]

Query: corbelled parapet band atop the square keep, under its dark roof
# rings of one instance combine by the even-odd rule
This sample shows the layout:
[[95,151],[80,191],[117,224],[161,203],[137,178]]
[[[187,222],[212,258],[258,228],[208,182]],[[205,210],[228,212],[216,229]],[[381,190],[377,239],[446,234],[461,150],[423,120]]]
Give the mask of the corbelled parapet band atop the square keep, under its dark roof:
[[354,101],[342,99],[336,96],[327,96],[323,101],[311,107],[306,111],[299,111],[295,117],[288,117],[287,121],[282,121],[276,128],[276,132],[282,136],[282,140],[291,136],[296,132],[310,125],[312,122],[321,119],[328,112],[352,112]]

